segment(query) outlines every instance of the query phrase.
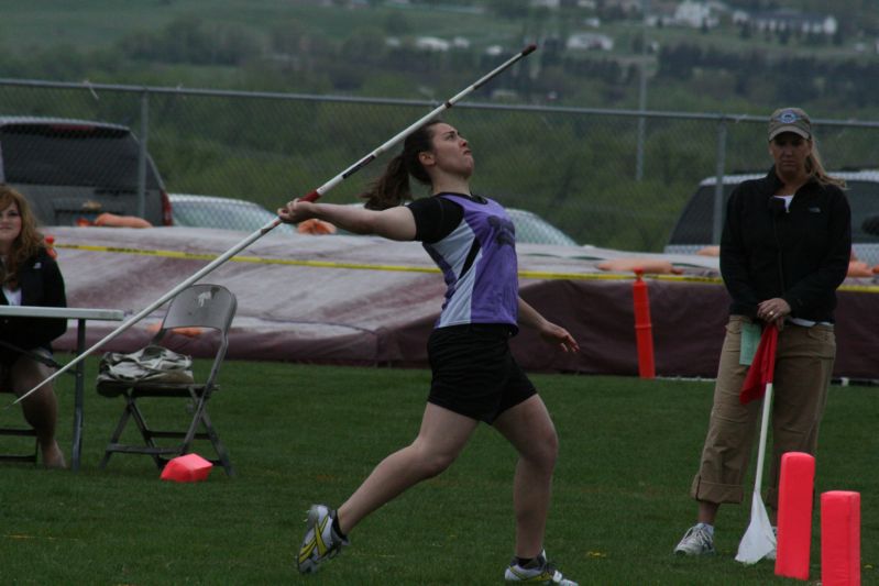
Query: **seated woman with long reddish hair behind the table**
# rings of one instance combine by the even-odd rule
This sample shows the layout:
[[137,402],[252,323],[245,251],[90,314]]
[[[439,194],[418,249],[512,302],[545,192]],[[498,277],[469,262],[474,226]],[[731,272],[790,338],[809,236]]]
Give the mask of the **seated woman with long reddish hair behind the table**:
[[[36,230],[28,200],[0,185],[0,305],[66,307],[64,278]],[[67,330],[67,320],[0,318],[0,386],[21,396],[52,372],[50,343]],[[55,441],[57,400],[45,385],[22,401],[36,431],[46,467],[65,467]]]

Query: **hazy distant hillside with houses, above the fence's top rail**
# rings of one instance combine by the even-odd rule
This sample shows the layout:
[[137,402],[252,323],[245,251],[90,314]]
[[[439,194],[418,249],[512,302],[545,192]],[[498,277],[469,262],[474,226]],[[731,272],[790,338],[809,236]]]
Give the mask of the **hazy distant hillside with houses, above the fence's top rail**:
[[[879,91],[879,9],[866,0],[708,2],[717,21],[703,27],[645,26],[622,8],[639,3],[620,0],[3,4],[2,77],[431,98],[537,42],[527,75],[505,78],[496,99],[635,108],[642,67],[652,109],[796,102],[870,115]],[[833,15],[838,31],[769,33],[733,21],[736,10],[785,8]]]

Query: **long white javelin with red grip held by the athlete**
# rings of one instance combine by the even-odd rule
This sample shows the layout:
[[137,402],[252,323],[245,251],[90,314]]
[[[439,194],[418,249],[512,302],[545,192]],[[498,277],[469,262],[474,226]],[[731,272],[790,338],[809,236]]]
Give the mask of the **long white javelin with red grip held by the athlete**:
[[[317,189],[312,190],[311,192],[307,194],[306,196],[304,196],[300,199],[303,199],[305,201],[315,201],[315,200],[317,200],[322,195],[325,195],[327,191],[329,191],[330,189],[332,189],[333,187],[336,187],[337,185],[339,185],[343,180],[348,179],[349,177],[354,175],[356,172],[359,172],[360,169],[362,169],[363,167],[365,167],[366,165],[369,165],[370,163],[375,161],[375,158],[378,155],[381,155],[382,153],[384,153],[388,148],[392,148],[394,145],[396,145],[397,143],[399,143],[404,139],[406,139],[406,136],[408,136],[409,134],[414,133],[416,130],[420,129],[422,125],[425,125],[431,119],[437,117],[440,112],[442,112],[444,110],[448,110],[449,108],[451,108],[452,106],[458,103],[462,98],[464,98],[464,96],[466,96],[466,95],[471,93],[472,91],[479,89],[481,86],[483,86],[484,84],[486,84],[487,81],[493,79],[495,76],[497,76],[498,74],[501,74],[502,71],[507,69],[514,63],[518,62],[519,59],[521,59],[526,55],[529,55],[530,53],[532,53],[536,48],[537,48],[537,45],[535,45],[535,44],[528,45],[527,47],[521,49],[519,53],[517,53],[516,55],[514,55],[513,57],[510,57],[506,62],[504,62],[501,65],[498,65],[497,67],[495,67],[493,70],[491,70],[487,74],[485,74],[484,76],[482,76],[473,85],[471,85],[470,87],[468,87],[468,88],[463,89],[462,91],[458,92],[454,97],[449,98],[442,104],[440,104],[439,107],[437,107],[433,110],[431,110],[428,114],[421,117],[416,122],[410,124],[406,130],[404,130],[403,132],[400,132],[399,134],[397,134],[396,136],[394,136],[393,139],[387,141],[386,143],[381,145],[378,148],[376,148],[375,151],[373,151],[372,153],[370,153],[365,157],[361,158],[360,161],[358,161],[356,163],[354,163],[353,165],[348,167],[345,170],[343,170],[342,173],[340,173],[339,175],[337,175],[336,177],[333,177],[332,179],[330,179],[326,184],[321,185]],[[119,328],[117,328],[116,330],[113,330],[112,332],[110,332],[109,334],[103,336],[103,339],[100,342],[98,342],[94,346],[89,347],[88,350],[83,351],[83,353],[79,354],[77,357],[75,357],[74,360],[72,360],[67,364],[65,364],[58,371],[55,371],[55,373],[53,373],[52,376],[50,376],[48,378],[46,378],[45,380],[43,380],[42,383],[36,385],[34,388],[32,388],[31,390],[29,390],[28,392],[25,392],[24,395],[22,395],[21,397],[19,397],[14,401],[12,401],[11,403],[9,403],[7,406],[7,409],[9,409],[10,407],[12,407],[13,405],[15,405],[18,402],[21,402],[23,399],[28,398],[28,396],[31,395],[32,392],[34,392],[36,389],[39,389],[43,385],[45,385],[47,383],[51,383],[52,380],[57,378],[58,375],[61,375],[62,373],[64,373],[66,371],[69,371],[70,367],[73,367],[74,365],[76,365],[79,362],[81,362],[83,360],[85,360],[86,356],[88,356],[89,354],[91,354],[92,352],[98,350],[100,346],[102,346],[103,344],[106,344],[110,340],[113,340],[114,338],[117,338],[119,334],[121,334],[122,332],[124,332],[125,330],[128,330],[129,328],[134,325],[135,323],[138,323],[144,317],[149,316],[156,308],[161,307],[168,299],[173,298],[174,296],[179,294],[182,290],[184,290],[185,288],[189,287],[191,284],[194,284],[198,279],[200,279],[201,277],[204,277],[205,275],[207,275],[208,273],[210,273],[211,270],[213,270],[215,268],[217,268],[218,266],[220,266],[221,264],[227,262],[229,258],[231,258],[235,254],[240,253],[241,251],[243,251],[244,248],[246,248],[251,244],[253,244],[256,240],[259,240],[263,235],[267,234],[270,231],[274,230],[279,224],[281,224],[281,219],[279,218],[275,218],[274,220],[272,220],[271,222],[268,222],[267,224],[265,224],[261,229],[259,229],[255,232],[253,232],[251,235],[249,235],[248,237],[245,237],[244,240],[242,240],[241,242],[239,242],[238,244],[235,244],[234,246],[232,246],[231,248],[226,251],[223,254],[221,254],[220,256],[218,256],[217,258],[211,261],[209,264],[207,264],[200,270],[195,273],[193,276],[190,276],[189,278],[187,278],[186,280],[184,280],[183,283],[177,285],[176,287],[174,287],[172,290],[169,290],[168,292],[166,292],[165,295],[163,295],[162,297],[160,297],[158,299],[153,301],[150,305],[150,307],[143,309],[139,313],[136,313],[136,314],[132,316],[131,318],[129,318],[128,320],[125,320]]]

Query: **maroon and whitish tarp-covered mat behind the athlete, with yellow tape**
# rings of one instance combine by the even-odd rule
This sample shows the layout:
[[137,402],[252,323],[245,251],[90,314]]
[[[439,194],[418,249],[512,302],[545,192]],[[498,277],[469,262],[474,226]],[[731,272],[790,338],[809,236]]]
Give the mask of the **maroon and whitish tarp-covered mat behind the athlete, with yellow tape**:
[[[136,313],[230,250],[246,234],[207,229],[59,228],[58,262],[70,307]],[[669,259],[682,275],[648,276],[656,371],[661,376],[714,377],[728,297],[717,259],[593,247],[519,245],[521,297],[568,328],[581,345],[564,354],[524,329],[513,347],[532,372],[638,374],[633,275],[596,264],[615,257]],[[424,250],[367,236],[268,233],[201,279],[227,286],[239,300],[229,357],[330,364],[426,366],[427,335],[444,285]],[[879,378],[879,286],[849,279],[839,291],[836,376]],[[160,308],[98,352],[130,352],[151,338]],[[97,343],[119,324],[88,323]],[[73,329],[55,346],[72,350]],[[200,338],[174,346],[206,355]]]

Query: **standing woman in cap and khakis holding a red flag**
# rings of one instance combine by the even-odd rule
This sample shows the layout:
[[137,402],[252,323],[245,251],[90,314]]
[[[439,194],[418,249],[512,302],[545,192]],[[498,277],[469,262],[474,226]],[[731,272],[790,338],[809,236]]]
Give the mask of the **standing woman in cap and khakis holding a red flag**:
[[848,269],[851,212],[844,183],[821,164],[803,110],[772,113],[769,153],[774,165],[767,176],[744,181],[727,204],[721,274],[732,297],[729,322],[708,433],[690,490],[699,502],[697,523],[675,548],[679,554],[714,553],[721,504],[744,498],[761,401],[743,405],[739,391],[748,371],[747,349],[752,352],[750,342],[760,338],[763,324],[779,329],[767,505],[778,508],[781,455],[817,449],[836,357],[836,288]]

